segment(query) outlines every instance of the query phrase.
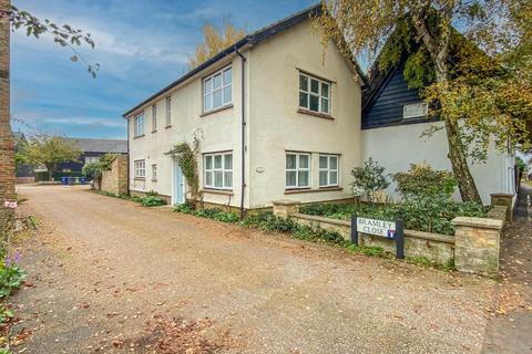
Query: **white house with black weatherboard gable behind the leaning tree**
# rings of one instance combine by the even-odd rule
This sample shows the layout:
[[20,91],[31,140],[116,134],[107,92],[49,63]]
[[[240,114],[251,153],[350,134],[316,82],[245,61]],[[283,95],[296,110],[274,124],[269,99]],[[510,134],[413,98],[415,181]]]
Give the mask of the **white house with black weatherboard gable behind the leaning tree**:
[[[451,170],[444,123],[429,117],[419,90],[408,86],[403,75],[406,58],[383,69],[377,60],[369,71],[362,107],[362,158],[374,158],[390,174],[423,162]],[[422,136],[434,126],[440,129]],[[491,146],[485,163],[470,162],[470,170],[484,205],[490,204],[490,194],[516,191],[515,155],[510,149],[500,153]],[[388,187],[387,195],[397,196],[395,184]],[[458,190],[454,199],[460,199]]]

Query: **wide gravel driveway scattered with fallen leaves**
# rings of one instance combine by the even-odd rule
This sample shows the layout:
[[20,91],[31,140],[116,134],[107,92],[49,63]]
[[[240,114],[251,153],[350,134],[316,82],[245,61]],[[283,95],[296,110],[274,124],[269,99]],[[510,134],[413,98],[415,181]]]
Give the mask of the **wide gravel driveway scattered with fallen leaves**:
[[14,330],[30,335],[14,353],[482,350],[492,281],[79,187],[19,192],[42,227],[21,246],[30,275]]

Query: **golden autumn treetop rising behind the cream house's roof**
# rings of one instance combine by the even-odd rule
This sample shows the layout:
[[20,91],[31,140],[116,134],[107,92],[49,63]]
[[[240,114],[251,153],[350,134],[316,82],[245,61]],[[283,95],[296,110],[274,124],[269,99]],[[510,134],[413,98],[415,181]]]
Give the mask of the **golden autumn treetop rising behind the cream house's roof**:
[[235,44],[246,35],[244,30],[236,29],[232,23],[225,22],[222,32],[212,25],[203,27],[203,42],[196,46],[194,56],[188,59],[191,70],[200,66],[224,49]]

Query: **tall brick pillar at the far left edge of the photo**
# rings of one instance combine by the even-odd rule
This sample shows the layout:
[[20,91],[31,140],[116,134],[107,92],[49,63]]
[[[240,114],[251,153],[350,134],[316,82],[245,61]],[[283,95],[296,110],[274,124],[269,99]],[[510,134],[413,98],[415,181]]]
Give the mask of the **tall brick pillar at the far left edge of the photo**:
[[[10,0],[0,0],[0,9],[8,11]],[[9,18],[0,18],[0,201],[14,197],[14,139],[9,108]]]

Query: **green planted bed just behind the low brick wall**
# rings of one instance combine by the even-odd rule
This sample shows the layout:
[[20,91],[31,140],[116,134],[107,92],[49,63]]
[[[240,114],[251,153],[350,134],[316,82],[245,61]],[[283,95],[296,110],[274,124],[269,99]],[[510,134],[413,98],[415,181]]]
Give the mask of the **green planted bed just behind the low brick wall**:
[[485,208],[474,202],[456,202],[444,198],[415,198],[403,204],[311,204],[300,214],[349,220],[359,217],[393,221],[402,219],[410,230],[454,235],[451,220],[456,217],[487,217]]

